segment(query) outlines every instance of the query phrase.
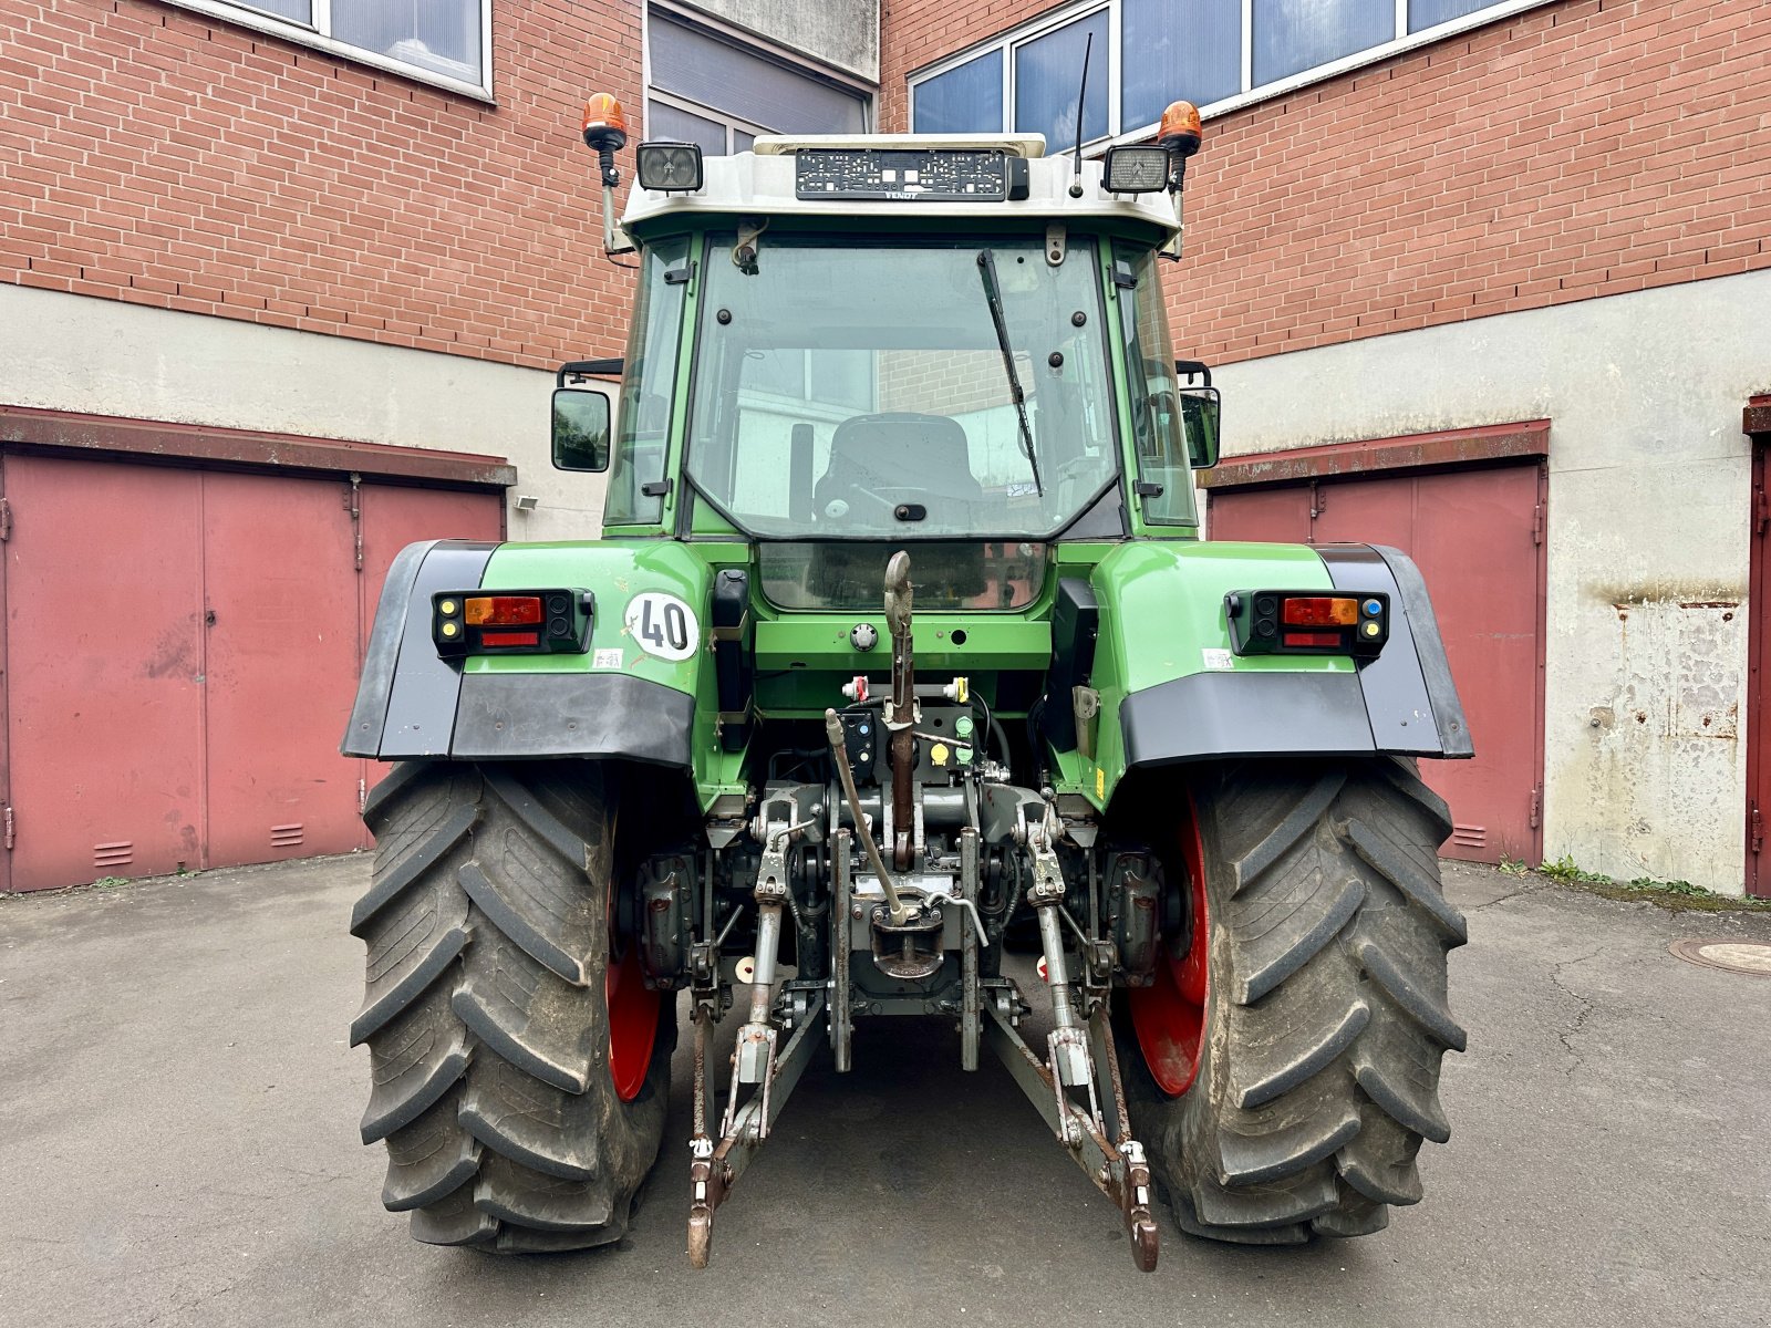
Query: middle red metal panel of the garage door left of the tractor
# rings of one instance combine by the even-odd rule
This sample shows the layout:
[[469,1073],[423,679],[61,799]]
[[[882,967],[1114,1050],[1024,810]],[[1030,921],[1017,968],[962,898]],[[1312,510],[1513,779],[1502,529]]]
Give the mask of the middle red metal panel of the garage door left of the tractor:
[[271,862],[361,841],[356,535],[336,480],[205,475],[209,852]]

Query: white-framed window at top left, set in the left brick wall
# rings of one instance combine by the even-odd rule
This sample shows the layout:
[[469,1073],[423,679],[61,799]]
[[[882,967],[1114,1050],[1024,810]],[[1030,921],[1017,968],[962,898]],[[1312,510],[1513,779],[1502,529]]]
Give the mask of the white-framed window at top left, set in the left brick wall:
[[421,83],[492,96],[492,0],[170,2]]

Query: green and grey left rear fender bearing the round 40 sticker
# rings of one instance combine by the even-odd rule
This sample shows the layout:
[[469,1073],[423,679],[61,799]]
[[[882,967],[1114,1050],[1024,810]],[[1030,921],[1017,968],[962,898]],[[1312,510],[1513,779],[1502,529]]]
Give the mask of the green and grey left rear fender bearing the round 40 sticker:
[[[556,586],[595,597],[584,653],[437,655],[434,595]],[[576,756],[691,768],[710,586],[710,568],[675,544],[407,545],[381,591],[342,751],[383,761]],[[630,632],[629,611],[643,598],[680,606],[673,616],[684,634],[648,646]]]

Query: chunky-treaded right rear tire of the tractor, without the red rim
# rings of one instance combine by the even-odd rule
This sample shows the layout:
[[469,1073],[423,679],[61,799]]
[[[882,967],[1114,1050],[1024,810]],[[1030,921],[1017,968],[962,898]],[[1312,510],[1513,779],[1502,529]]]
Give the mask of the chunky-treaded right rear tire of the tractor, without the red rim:
[[1445,804],[1411,761],[1243,763],[1194,790],[1194,820],[1204,1036],[1190,1087],[1169,1096],[1121,1002],[1137,1137],[1195,1236],[1380,1231],[1390,1204],[1420,1201],[1422,1140],[1450,1137],[1440,1059],[1465,1048],[1445,1000],[1447,951],[1466,938],[1440,891]]

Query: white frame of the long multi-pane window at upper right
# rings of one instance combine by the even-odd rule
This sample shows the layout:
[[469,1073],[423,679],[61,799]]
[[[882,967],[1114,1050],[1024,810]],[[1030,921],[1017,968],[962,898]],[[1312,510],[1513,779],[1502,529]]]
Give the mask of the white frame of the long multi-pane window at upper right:
[[[1419,50],[1420,46],[1431,46],[1433,42],[1445,41],[1447,37],[1456,37],[1458,34],[1470,32],[1472,28],[1486,27],[1488,23],[1496,23],[1516,14],[1523,14],[1530,9],[1539,9],[1551,4],[1551,0],[1495,0],[1495,4],[1482,5],[1459,18],[1436,23],[1431,28],[1422,28],[1420,32],[1408,32],[1408,0],[1394,0],[1396,23],[1394,32],[1401,34],[1378,46],[1369,46],[1362,51],[1353,51],[1339,60],[1328,64],[1312,66],[1296,74],[1279,78],[1268,83],[1254,83],[1254,0],[1241,0],[1241,90],[1229,97],[1220,97],[1218,101],[1208,103],[1199,108],[1199,113],[1206,119],[1218,115],[1229,115],[1245,106],[1254,106],[1261,101],[1270,101],[1273,97],[1282,97],[1296,92],[1311,83],[1321,83],[1330,78],[1339,78],[1353,69],[1362,69],[1369,64],[1378,64],[1380,60],[1388,60],[1404,51]],[[1123,124],[1121,122],[1121,62],[1123,62],[1123,30],[1121,30],[1121,5],[1123,0],[1073,0],[1073,4],[1061,5],[1057,9],[1047,11],[1036,19],[1020,23],[1013,28],[1004,28],[985,41],[972,42],[963,50],[951,55],[944,55],[926,66],[912,69],[905,78],[909,90],[909,131],[916,133],[916,89],[932,78],[939,78],[953,69],[958,69],[971,60],[990,51],[1002,53],[1002,126],[999,129],[981,129],[979,133],[1013,133],[1008,126],[1015,124],[1015,48],[1022,42],[1032,41],[1034,37],[1043,37],[1079,18],[1087,18],[1102,9],[1107,11],[1107,129],[1109,133],[1102,138],[1086,140],[1082,145],[1084,156],[1098,156],[1100,152],[1114,147],[1118,143],[1137,143],[1148,142],[1156,133],[1156,120],[1148,124]],[[1061,152],[1073,151],[1073,143],[1047,143],[1045,151],[1048,156],[1059,156]]]

